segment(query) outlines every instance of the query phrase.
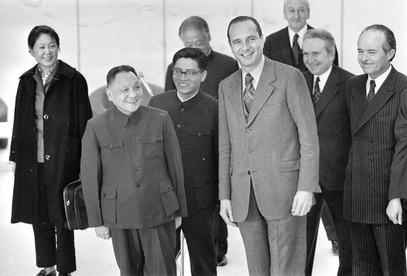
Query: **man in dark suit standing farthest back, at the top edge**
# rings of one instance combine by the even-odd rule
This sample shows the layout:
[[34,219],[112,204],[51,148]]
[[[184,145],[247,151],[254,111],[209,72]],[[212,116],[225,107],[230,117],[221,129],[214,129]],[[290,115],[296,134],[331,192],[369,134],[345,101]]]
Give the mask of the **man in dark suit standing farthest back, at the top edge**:
[[[305,32],[312,29],[307,24],[309,12],[308,0],[284,0],[283,13],[288,26],[266,38],[263,48],[264,55],[277,62],[294,66],[301,72],[307,71],[307,67],[303,62],[301,48]],[[338,65],[336,48],[333,63]]]

